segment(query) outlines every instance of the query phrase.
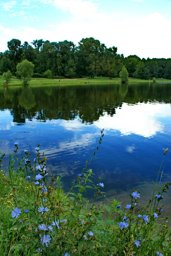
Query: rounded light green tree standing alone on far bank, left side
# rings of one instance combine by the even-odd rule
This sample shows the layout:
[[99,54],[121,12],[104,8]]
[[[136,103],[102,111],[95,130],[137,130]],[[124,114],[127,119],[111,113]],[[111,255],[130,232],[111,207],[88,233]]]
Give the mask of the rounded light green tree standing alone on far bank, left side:
[[27,85],[33,75],[34,65],[27,59],[17,64],[17,74],[24,85]]

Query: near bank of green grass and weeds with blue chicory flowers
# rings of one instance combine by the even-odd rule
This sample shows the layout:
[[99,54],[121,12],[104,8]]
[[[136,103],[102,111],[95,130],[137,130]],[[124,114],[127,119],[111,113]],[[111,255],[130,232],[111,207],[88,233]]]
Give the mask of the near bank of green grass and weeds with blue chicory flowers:
[[[19,143],[14,144],[15,154],[10,155],[8,166],[9,177],[6,178],[3,170],[0,173],[2,256],[171,255],[169,219],[160,217],[163,208],[160,201],[171,182],[167,181],[155,193],[156,181],[152,199],[138,213],[136,206],[141,196],[138,190],[133,189],[130,202],[124,207],[115,199],[110,202],[103,192],[105,184],[99,178],[94,185],[93,171],[87,168],[99,150],[103,136],[102,130],[97,150],[68,193],[62,189],[60,176],[51,175],[51,181],[47,180],[47,158],[44,153],[40,155],[39,145],[35,148],[37,155],[32,165],[31,153],[27,150],[19,161]],[[3,157],[1,153],[0,162]],[[18,164],[16,172],[15,161]],[[83,196],[87,189],[93,191],[92,204]],[[106,204],[97,205],[99,194]],[[108,213],[108,218],[104,213]]]

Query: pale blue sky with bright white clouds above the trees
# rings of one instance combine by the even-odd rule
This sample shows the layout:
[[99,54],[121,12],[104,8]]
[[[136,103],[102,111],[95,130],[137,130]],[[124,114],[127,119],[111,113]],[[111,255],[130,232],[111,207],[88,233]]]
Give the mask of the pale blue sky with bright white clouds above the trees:
[[7,42],[93,37],[124,57],[171,58],[171,0],[0,1],[0,52]]

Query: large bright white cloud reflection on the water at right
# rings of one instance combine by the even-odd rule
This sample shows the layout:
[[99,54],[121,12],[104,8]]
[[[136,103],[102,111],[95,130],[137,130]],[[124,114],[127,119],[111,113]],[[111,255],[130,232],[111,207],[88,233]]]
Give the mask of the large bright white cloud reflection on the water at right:
[[164,132],[164,125],[159,120],[171,116],[169,104],[139,103],[128,105],[123,103],[121,109],[111,117],[107,113],[94,124],[106,130],[118,130],[122,135],[137,134],[144,137],[154,136],[157,132]]

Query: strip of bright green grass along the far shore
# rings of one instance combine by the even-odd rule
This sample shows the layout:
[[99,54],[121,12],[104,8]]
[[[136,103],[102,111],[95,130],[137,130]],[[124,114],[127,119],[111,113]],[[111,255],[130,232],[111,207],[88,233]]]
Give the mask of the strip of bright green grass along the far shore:
[[[29,85],[34,86],[34,85],[70,85],[70,84],[92,84],[92,83],[120,83],[121,79],[120,78],[113,78],[109,79],[108,77],[94,77],[94,78],[75,78],[75,79],[61,79],[60,82],[59,80],[56,79],[48,79],[48,78],[32,78]],[[142,80],[142,79],[135,79],[135,78],[129,78],[130,83],[138,83],[138,82],[145,82],[149,83],[149,80]],[[167,79],[156,79],[157,83],[171,83],[171,80]],[[152,83],[152,80],[150,81]],[[0,76],[0,86],[4,85],[4,81],[2,79],[2,76]],[[22,85],[21,81],[15,77],[12,77],[11,82],[9,83],[10,85]]]

